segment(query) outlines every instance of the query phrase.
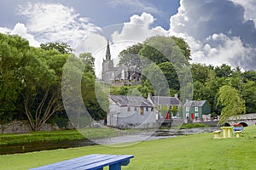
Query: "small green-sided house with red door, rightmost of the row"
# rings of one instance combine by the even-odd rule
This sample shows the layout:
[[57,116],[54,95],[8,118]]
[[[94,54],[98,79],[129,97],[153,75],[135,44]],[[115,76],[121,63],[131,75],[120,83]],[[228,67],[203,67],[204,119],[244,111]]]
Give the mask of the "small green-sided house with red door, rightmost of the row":
[[211,120],[211,107],[207,100],[187,100],[183,105],[183,118],[191,122]]

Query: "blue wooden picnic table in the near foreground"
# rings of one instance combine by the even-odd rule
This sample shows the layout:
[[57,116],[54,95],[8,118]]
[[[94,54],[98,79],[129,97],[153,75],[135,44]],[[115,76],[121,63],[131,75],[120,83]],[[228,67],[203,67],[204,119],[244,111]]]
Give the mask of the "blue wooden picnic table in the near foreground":
[[132,155],[92,154],[67,161],[59,161],[43,167],[35,167],[31,170],[102,170],[106,166],[109,166],[109,170],[120,170],[121,166],[126,166],[130,163],[131,158],[133,158]]

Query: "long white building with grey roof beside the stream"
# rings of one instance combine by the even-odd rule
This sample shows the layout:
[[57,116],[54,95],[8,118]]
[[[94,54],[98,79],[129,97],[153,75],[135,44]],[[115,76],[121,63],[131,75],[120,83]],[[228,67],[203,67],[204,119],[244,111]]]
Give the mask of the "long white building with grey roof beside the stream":
[[140,96],[109,95],[107,125],[115,127],[157,127],[154,105]]

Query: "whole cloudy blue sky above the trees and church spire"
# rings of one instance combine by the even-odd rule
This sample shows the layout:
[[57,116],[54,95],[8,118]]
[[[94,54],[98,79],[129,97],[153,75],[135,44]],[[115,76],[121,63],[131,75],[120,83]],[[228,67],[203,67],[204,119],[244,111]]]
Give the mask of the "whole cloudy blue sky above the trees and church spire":
[[256,0],[0,0],[0,32],[32,46],[67,42],[100,75],[107,40],[119,52],[148,37],[183,37],[191,63],[256,70]]

